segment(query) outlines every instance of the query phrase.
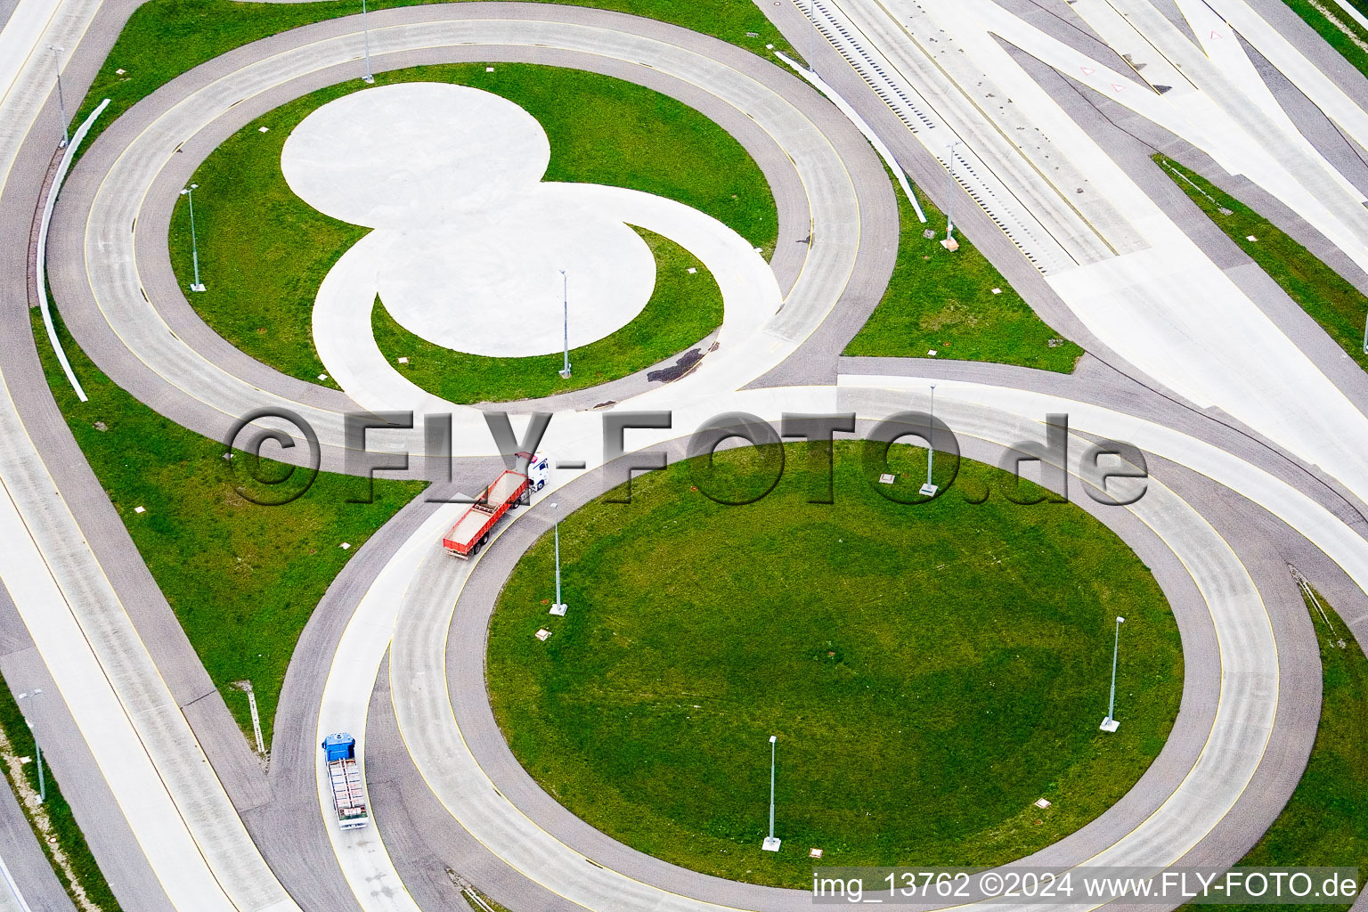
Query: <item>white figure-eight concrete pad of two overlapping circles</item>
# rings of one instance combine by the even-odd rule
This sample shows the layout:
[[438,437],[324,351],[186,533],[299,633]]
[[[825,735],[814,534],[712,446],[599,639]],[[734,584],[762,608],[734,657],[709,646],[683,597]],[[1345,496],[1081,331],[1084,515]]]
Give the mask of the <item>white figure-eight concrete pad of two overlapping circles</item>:
[[549,160],[542,126],[512,101],[413,82],[323,105],[290,134],[280,167],[320,212],[376,230],[373,290],[399,325],[447,349],[525,357],[560,351],[566,332],[570,347],[611,335],[655,287],[640,235],[591,194],[550,194]]

